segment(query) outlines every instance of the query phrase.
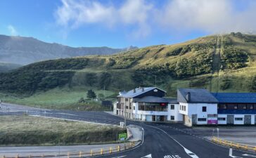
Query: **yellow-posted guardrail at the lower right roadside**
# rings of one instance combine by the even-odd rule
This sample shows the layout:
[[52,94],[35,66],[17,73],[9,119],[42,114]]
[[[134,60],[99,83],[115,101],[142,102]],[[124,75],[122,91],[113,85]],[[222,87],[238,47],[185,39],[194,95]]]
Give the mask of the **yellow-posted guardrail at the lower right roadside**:
[[236,148],[236,149],[250,150],[250,151],[256,152],[256,146],[244,145],[244,144],[241,144],[241,143],[234,143],[234,142],[231,142],[229,140],[223,140],[223,139],[217,138],[217,137],[212,137],[212,142],[220,144],[220,145],[225,145],[225,146],[228,146],[228,147],[233,147],[233,148]]

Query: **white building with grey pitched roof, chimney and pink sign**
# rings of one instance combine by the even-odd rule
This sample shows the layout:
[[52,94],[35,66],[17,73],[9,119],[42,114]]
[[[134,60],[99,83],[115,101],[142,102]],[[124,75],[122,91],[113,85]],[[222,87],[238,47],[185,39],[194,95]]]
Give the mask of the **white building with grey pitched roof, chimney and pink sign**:
[[177,101],[186,126],[217,124],[218,100],[206,89],[179,88]]

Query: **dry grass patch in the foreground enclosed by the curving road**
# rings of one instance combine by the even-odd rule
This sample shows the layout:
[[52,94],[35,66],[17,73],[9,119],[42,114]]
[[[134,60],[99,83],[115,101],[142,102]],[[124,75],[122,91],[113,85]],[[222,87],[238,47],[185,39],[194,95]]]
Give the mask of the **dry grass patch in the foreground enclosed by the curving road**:
[[115,142],[117,126],[30,116],[1,116],[0,145],[72,145]]

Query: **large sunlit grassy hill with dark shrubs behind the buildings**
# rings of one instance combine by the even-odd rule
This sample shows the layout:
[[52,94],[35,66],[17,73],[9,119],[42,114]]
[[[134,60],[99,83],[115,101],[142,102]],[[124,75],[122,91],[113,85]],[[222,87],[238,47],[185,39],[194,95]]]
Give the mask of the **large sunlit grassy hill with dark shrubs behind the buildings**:
[[98,91],[105,86],[117,93],[136,86],[154,86],[155,77],[157,86],[172,97],[180,87],[256,91],[255,59],[256,35],[213,35],[115,55],[36,62],[0,74],[0,91],[2,96],[22,94],[27,98],[56,88],[73,93],[88,88]]

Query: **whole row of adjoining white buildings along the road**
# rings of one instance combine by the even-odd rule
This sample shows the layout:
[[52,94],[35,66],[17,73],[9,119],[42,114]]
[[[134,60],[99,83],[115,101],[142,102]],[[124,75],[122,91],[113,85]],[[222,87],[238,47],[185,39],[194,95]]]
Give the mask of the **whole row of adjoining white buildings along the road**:
[[256,124],[256,93],[179,88],[177,99],[171,99],[160,88],[135,88],[117,96],[114,114],[139,121],[182,121],[186,126]]

